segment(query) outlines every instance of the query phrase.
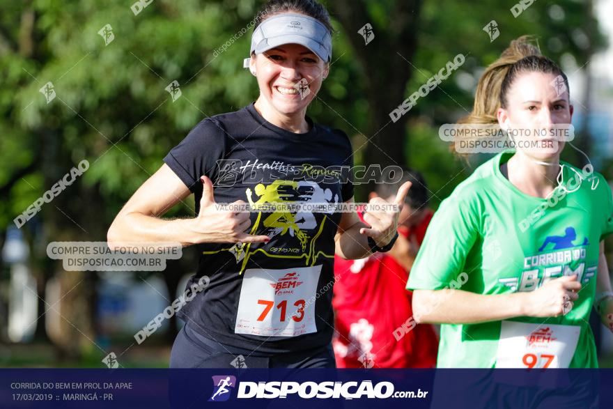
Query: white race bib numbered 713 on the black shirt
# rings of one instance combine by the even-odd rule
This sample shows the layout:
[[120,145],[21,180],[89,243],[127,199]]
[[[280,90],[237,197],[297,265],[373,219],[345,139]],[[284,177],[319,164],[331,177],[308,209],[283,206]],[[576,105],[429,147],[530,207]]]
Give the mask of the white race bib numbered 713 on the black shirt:
[[245,270],[234,332],[263,337],[317,332],[315,300],[320,272],[321,265]]

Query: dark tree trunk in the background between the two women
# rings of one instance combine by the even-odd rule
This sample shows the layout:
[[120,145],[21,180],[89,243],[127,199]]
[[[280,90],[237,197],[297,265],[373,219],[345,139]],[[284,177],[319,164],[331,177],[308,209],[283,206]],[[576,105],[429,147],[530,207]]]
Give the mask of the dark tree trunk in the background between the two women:
[[[347,32],[357,60],[364,72],[364,88],[368,98],[369,126],[366,137],[365,164],[406,164],[406,124],[409,114],[391,121],[389,113],[403,100],[406,84],[412,77],[411,61],[417,49],[417,29],[421,0],[396,1],[386,27],[375,26],[364,0],[334,1],[336,17]],[[373,26],[374,38],[366,45],[359,33],[364,24]],[[369,185],[372,190],[374,185]]]

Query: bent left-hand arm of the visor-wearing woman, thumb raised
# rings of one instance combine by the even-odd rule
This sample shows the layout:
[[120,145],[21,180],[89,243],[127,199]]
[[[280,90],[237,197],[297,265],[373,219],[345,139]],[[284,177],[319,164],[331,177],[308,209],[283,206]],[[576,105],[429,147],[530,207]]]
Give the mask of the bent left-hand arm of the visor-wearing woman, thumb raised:
[[[162,219],[170,208],[191,192],[166,165],[162,165],[125,203],[107,233],[109,248],[118,242],[255,242],[267,236],[242,233],[249,228],[249,213],[216,210],[211,181],[203,176],[200,213],[193,219]],[[234,202],[240,203],[240,201]],[[243,202],[244,203],[244,202]]]

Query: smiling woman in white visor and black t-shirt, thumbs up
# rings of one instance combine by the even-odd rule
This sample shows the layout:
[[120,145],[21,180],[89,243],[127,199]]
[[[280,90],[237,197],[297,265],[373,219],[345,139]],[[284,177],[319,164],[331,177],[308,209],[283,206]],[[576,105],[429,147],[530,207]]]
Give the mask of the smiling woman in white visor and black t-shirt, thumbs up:
[[[329,72],[331,32],[316,1],[269,1],[245,61],[258,81],[256,102],[196,125],[109,229],[109,246],[176,241],[201,248],[188,286],[204,275],[210,284],[178,312],[186,325],[171,367],[334,367],[334,254],[363,258],[387,251],[396,238],[397,210],[368,212],[364,224],[334,208],[265,209],[353,201],[343,178],[352,166],[348,137],[306,115]],[[409,187],[398,190],[398,206]],[[194,219],[159,217],[192,193]],[[217,210],[217,203],[251,212]]]

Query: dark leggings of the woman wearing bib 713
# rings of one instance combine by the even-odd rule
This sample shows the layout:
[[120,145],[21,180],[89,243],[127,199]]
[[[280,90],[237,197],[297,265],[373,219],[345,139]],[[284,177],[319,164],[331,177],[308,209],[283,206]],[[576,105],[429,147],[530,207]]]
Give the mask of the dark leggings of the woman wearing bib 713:
[[279,353],[267,357],[253,356],[250,351],[236,353],[231,347],[224,350],[215,341],[197,334],[189,325],[183,325],[177,335],[170,357],[171,368],[336,368],[332,344]]

